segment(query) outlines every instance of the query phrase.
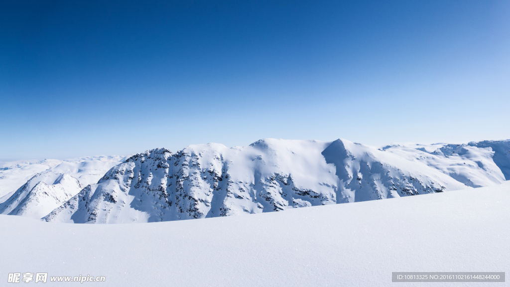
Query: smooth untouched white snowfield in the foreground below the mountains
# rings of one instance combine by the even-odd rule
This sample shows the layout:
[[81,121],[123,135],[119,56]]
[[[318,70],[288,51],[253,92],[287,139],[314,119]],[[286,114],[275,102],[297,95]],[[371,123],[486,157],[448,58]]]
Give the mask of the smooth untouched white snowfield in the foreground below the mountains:
[[392,283],[391,272],[508,275],[510,184],[163,223],[0,216],[0,228],[3,280],[48,272],[106,276],[90,286],[507,286]]

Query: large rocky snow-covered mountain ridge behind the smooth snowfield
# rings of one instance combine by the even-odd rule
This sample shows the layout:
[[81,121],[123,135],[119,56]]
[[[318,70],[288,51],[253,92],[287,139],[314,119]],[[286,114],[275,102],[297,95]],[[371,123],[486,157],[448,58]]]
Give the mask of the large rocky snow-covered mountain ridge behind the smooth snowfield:
[[490,141],[378,150],[344,139],[264,139],[230,149],[216,143],[177,153],[155,149],[126,159],[44,219],[173,221],[488,186],[505,180],[499,166],[508,157],[498,149],[507,147],[508,141]]

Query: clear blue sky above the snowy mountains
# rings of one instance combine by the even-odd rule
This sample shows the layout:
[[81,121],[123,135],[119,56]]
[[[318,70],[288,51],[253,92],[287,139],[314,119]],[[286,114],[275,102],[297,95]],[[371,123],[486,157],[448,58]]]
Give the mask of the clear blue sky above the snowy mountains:
[[510,138],[508,1],[1,1],[0,160]]

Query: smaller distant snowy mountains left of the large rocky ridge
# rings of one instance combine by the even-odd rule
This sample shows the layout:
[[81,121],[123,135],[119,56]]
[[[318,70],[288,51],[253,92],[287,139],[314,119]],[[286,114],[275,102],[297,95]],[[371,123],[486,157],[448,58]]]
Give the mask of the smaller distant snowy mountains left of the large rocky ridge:
[[[88,184],[95,183],[112,166],[120,162],[121,157],[89,157],[67,161],[44,160],[39,162],[15,162],[4,168],[8,171],[8,180],[16,182],[27,172],[50,166],[33,176],[15,192],[4,196],[0,203],[0,214],[11,214],[41,218]],[[48,164],[48,165],[46,165]],[[8,184],[9,186],[9,184]]]

